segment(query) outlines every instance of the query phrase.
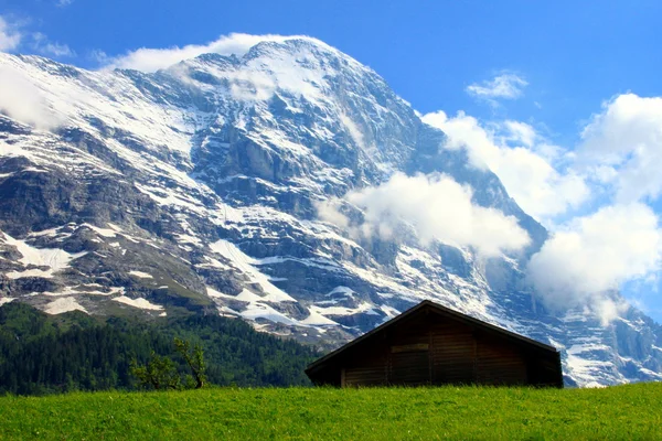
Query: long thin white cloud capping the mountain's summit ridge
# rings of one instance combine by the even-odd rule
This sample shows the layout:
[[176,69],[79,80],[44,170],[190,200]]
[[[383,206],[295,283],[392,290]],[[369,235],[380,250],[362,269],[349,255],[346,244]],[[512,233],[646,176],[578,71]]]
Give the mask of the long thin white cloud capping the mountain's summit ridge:
[[237,56],[242,56],[248,52],[250,47],[260,42],[284,42],[293,39],[305,39],[314,41],[318,44],[323,44],[316,39],[303,35],[284,36],[233,33],[229,35],[223,35],[207,44],[190,44],[183,47],[173,46],[168,49],[142,47],[113,58],[105,67],[156,72],[161,68],[170,67],[181,61],[194,58],[206,53],[216,53],[222,55],[235,54]]

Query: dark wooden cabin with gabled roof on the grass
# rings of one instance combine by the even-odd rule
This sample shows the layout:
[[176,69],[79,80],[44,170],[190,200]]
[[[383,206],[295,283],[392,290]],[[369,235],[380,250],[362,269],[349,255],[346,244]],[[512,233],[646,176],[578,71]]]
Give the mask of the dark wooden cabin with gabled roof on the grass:
[[316,385],[563,387],[552,346],[428,300],[312,363]]

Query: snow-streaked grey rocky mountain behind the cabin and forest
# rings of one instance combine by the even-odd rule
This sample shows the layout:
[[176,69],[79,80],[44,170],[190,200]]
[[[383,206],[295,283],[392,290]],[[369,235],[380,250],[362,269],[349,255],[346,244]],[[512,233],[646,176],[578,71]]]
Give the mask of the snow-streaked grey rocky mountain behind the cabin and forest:
[[[154,74],[0,54],[47,115],[0,115],[0,304],[49,313],[249,320],[333,346],[430,299],[563,349],[568,384],[662,379],[662,331],[546,311],[523,265],[547,232],[466,153],[442,148],[373,71],[310,39]],[[36,110],[35,110],[36,111]],[[394,172],[450,175],[514,216],[520,255],[355,239],[317,203]],[[348,204],[351,216],[361,216]],[[615,294],[618,295],[618,294]]]

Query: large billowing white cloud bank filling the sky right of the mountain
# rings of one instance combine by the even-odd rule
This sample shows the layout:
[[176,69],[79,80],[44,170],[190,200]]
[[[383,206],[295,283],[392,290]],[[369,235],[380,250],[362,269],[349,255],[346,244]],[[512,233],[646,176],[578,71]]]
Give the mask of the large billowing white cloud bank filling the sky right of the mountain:
[[645,203],[662,195],[662,97],[606,101],[574,149],[553,146],[521,121],[442,111],[423,120],[447,133],[442,148],[466,149],[473,166],[496,173],[526,213],[551,226],[526,266],[548,308],[584,308],[606,325],[629,308],[621,287],[654,289],[662,229]]

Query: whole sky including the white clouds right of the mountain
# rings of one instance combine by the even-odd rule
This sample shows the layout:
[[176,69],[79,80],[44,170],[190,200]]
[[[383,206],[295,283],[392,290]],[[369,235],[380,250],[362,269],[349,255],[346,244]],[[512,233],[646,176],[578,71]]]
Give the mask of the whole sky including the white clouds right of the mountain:
[[[140,47],[205,44],[233,32],[320,39],[374,68],[421,114],[442,110],[428,121],[458,142],[471,142],[477,155],[491,155],[487,161],[506,187],[528,185],[523,169],[537,172],[532,164],[548,164],[553,171],[542,164],[540,173],[553,175],[544,182],[533,176],[531,186],[562,195],[540,200],[558,206],[531,202],[542,193],[515,198],[531,200],[521,204],[567,239],[558,249],[573,252],[568,244],[575,239],[594,247],[574,266],[617,275],[628,297],[658,321],[660,250],[641,241],[662,237],[656,218],[662,180],[650,185],[644,180],[654,172],[650,164],[662,160],[661,17],[662,2],[652,0],[0,0],[6,34],[21,35],[11,51],[88,68],[99,66],[100,54],[113,58]],[[494,92],[499,78],[510,92]],[[534,130],[533,138],[513,135],[517,127]],[[629,143],[632,136],[640,139]],[[511,163],[522,158],[513,143],[528,152],[520,169]],[[630,228],[640,235],[613,244],[633,263],[599,261],[596,271],[590,262],[610,249],[600,248],[601,238],[588,230],[602,232],[609,241],[607,236]],[[552,251],[541,262],[546,268],[563,260],[560,251]],[[581,273],[570,276],[577,280]]]

